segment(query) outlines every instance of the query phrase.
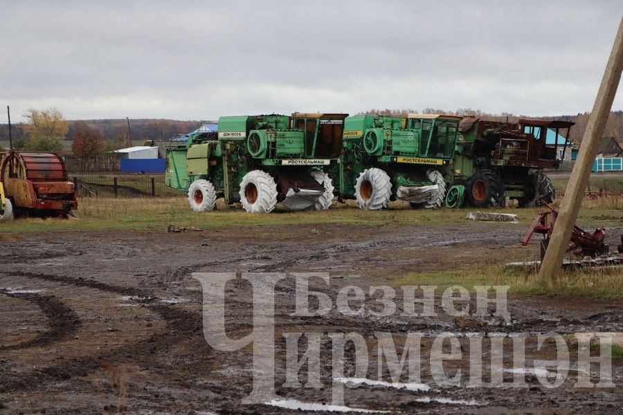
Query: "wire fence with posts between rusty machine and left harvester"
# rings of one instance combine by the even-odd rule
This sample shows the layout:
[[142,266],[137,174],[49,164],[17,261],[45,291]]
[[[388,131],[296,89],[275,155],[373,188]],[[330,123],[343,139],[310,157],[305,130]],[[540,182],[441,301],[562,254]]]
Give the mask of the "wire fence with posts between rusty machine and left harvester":
[[159,197],[181,196],[183,192],[165,185],[164,174],[141,173],[69,173],[78,196]]

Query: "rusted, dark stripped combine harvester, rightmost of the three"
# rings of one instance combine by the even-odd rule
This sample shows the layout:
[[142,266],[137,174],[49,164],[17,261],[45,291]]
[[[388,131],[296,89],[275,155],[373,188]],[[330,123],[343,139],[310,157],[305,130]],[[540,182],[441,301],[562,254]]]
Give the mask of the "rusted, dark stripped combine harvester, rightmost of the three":
[[464,118],[454,163],[444,174],[451,184],[446,206],[500,206],[505,198],[522,208],[551,203],[556,193],[543,169],[557,169],[565,159],[573,125],[563,120]]

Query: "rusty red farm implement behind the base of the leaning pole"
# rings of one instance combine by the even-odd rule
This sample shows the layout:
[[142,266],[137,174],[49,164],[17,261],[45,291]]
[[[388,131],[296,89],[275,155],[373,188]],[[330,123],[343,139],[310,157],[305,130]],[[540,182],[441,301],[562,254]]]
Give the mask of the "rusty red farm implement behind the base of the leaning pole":
[[[554,224],[558,217],[558,212],[552,208],[552,205],[546,201],[541,201],[543,205],[550,209],[550,212],[539,212],[536,214],[536,218],[530,225],[527,233],[524,235],[521,241],[523,246],[532,238],[535,233],[543,234],[543,241],[541,241],[541,261],[545,257],[545,250],[548,248],[552,231],[554,230]],[[604,228],[598,228],[595,232],[591,233],[579,228],[575,225],[571,232],[571,240],[567,252],[574,252],[576,255],[589,255],[590,257],[596,257],[597,255],[604,255],[608,253],[609,246],[605,243],[606,230]],[[623,239],[622,239],[623,243]]]

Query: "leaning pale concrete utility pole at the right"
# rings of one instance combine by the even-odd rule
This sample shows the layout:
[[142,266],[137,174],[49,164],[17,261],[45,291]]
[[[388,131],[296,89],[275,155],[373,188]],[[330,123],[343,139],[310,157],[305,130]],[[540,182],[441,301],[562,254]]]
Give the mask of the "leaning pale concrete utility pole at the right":
[[569,245],[571,231],[575,225],[577,214],[579,213],[584,191],[588,185],[590,169],[597,156],[599,145],[602,141],[608,115],[612,108],[612,102],[621,79],[621,69],[623,67],[623,19],[619,23],[619,31],[612,47],[610,59],[606,65],[606,71],[599,86],[597,98],[593,112],[588,118],[588,125],[584,131],[584,138],[580,145],[579,154],[567,184],[565,197],[563,199],[554,231],[545,251],[545,257],[539,271],[539,279],[556,280],[561,270],[562,262]]

